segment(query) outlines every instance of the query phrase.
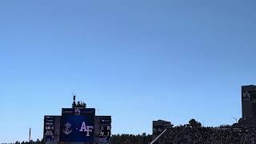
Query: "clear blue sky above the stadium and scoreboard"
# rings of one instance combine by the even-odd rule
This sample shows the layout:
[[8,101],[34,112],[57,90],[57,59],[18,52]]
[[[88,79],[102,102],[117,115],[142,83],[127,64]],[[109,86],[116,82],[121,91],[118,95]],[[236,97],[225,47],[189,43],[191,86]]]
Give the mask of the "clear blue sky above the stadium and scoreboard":
[[241,117],[256,84],[254,0],[0,1],[0,142],[42,138],[72,93],[113,118],[205,126]]

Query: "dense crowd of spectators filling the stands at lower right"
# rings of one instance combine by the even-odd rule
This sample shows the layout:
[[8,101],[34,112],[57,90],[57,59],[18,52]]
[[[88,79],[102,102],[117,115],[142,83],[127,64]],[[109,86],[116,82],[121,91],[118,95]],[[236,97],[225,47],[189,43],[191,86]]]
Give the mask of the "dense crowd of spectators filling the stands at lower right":
[[154,144],[256,144],[256,127],[175,126],[166,130]]

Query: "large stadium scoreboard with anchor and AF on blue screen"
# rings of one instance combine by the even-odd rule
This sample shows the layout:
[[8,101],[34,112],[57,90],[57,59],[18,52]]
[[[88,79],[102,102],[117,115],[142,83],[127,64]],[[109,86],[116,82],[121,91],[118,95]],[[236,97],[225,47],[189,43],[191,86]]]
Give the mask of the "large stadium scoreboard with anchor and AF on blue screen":
[[44,117],[46,143],[110,143],[111,116],[96,116],[94,108],[62,108],[61,116]]

